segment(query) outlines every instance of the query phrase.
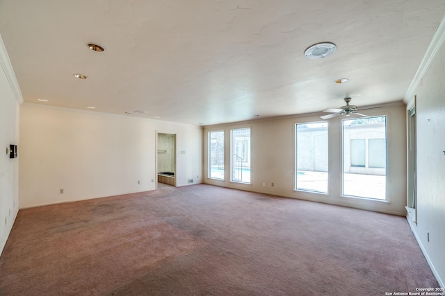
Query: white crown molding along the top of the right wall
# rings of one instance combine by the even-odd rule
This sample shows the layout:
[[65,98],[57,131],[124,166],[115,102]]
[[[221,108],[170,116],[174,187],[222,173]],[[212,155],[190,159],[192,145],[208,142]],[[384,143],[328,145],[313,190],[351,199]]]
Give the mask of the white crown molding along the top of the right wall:
[[445,17],[442,19],[441,23],[437,27],[435,35],[432,37],[430,46],[426,50],[425,55],[423,55],[422,62],[420,63],[419,69],[417,69],[416,75],[414,76],[410,87],[408,87],[403,101],[406,103],[407,108],[414,106],[414,95],[416,94],[416,88],[419,86],[419,82],[425,74],[432,60],[435,58],[437,51],[444,43],[445,40]]

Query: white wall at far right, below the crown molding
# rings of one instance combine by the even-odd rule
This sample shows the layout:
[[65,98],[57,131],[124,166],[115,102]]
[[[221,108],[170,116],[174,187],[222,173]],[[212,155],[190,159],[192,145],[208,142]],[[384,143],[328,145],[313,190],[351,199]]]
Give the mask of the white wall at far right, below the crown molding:
[[[445,24],[415,81],[417,128],[417,224],[411,223],[432,271],[445,287]],[[439,40],[439,42],[435,42]],[[431,53],[431,54],[430,54]],[[409,220],[410,221],[410,220]],[[410,221],[411,222],[411,221]],[[430,241],[427,239],[430,234]]]

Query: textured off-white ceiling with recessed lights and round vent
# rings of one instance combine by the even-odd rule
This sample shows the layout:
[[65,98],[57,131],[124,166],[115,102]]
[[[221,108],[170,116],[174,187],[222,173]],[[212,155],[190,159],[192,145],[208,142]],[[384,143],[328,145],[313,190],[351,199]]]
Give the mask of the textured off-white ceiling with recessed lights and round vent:
[[[401,101],[444,14],[443,0],[1,0],[0,35],[26,102],[211,125]],[[305,58],[318,42],[337,51]]]

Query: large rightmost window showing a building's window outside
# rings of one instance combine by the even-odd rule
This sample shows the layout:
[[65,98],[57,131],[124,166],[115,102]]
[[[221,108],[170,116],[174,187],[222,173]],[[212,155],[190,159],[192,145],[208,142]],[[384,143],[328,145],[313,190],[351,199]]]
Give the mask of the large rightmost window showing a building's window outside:
[[386,200],[386,116],[343,120],[343,195]]

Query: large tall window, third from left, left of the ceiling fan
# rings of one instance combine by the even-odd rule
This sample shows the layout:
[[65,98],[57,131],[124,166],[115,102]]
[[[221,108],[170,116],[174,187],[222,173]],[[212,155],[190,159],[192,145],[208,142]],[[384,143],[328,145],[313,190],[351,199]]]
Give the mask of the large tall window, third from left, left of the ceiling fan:
[[296,125],[296,189],[327,193],[327,122]]

